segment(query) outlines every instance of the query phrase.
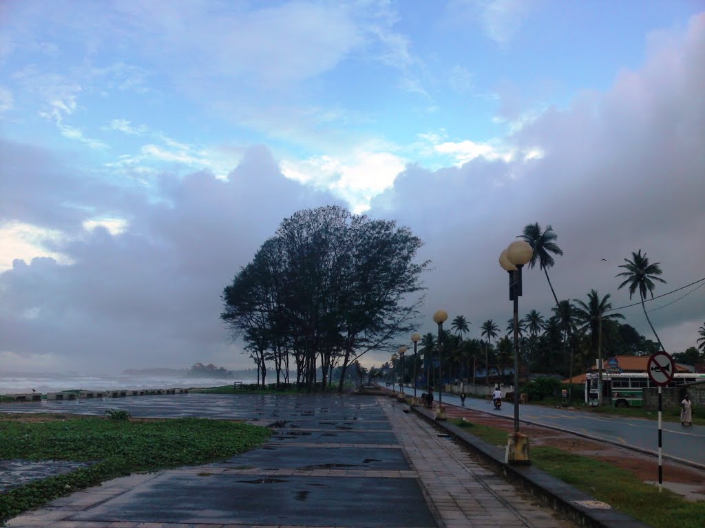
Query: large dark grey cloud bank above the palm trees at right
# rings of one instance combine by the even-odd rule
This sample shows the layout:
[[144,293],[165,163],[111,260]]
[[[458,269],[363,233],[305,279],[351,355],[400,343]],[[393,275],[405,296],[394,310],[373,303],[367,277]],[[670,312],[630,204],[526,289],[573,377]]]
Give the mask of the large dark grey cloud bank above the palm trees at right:
[[[705,277],[704,65],[699,15],[685,37],[664,40],[641,70],[622,73],[605,94],[580,94],[570,108],[549,109],[508,140],[520,150],[540,147],[543,158],[476,159],[400,175],[373,201],[373,212],[400,218],[427,241],[424,255],[435,270],[427,278],[424,331],[434,330],[437,308],[451,318],[465,315],[475,335],[489,318],[503,329],[511,304],[497,258],[533,222],[553,225],[565,252],[549,270],[559,298],[586,298],[596,288],[612,294],[613,306],[630,303],[614,277],[638,249],[661,263],[668,280],[656,295]],[[527,270],[520,313],[536,308],[548,315],[552,303],[544,274]],[[623,313],[653,339],[640,306]],[[651,318],[667,348],[692,346],[705,321],[705,287]]]

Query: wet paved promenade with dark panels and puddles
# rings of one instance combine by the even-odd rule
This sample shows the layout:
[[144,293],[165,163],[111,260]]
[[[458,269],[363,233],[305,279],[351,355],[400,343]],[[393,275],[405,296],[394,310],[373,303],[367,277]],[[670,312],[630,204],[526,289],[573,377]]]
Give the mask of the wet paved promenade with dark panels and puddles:
[[[190,394],[142,401],[120,405],[133,406],[135,416],[247,419],[275,434],[217,463],[79,491],[8,526],[575,527],[391,398]],[[100,414],[106,404],[68,403],[36,407]]]

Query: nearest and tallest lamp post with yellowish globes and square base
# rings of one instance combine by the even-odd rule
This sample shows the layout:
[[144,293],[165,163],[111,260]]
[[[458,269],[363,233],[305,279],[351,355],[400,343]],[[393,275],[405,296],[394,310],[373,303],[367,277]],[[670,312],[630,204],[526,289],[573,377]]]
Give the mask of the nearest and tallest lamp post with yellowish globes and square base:
[[519,433],[519,298],[522,266],[531,260],[532,253],[527,242],[516,240],[499,256],[499,265],[509,273],[509,300],[514,301],[514,434],[509,439],[508,461],[515,463],[529,461],[528,439]]

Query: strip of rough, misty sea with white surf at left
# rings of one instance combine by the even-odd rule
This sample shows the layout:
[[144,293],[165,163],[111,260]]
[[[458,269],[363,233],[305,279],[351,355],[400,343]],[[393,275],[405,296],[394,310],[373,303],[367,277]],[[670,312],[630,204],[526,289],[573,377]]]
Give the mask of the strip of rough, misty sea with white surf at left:
[[0,394],[60,392],[72,389],[107,391],[117,389],[189,389],[257,383],[257,379],[235,379],[218,377],[188,377],[185,375],[82,375],[65,374],[0,373]]

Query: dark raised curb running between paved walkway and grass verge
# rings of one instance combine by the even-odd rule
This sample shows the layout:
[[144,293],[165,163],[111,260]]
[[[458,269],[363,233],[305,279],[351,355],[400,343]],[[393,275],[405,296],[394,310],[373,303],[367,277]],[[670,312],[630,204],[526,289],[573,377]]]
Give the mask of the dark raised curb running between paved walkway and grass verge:
[[603,503],[536,467],[505,464],[502,448],[492,446],[453,424],[436,421],[427,409],[412,407],[411,410],[434,425],[436,429],[450,434],[454,439],[481,455],[487,463],[501,471],[510,481],[520,484],[522,489],[540,498],[550,508],[569,517],[581,527],[649,528],[641,521],[612,508],[590,508],[591,504],[601,505]]

